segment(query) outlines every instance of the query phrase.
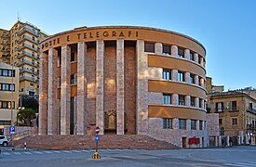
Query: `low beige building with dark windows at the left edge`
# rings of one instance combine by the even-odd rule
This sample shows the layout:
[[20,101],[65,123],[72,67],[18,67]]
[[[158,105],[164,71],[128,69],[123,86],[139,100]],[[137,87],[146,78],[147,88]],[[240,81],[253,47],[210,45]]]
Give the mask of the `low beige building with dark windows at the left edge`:
[[0,62],[0,135],[4,134],[5,125],[16,122],[18,106],[19,69]]

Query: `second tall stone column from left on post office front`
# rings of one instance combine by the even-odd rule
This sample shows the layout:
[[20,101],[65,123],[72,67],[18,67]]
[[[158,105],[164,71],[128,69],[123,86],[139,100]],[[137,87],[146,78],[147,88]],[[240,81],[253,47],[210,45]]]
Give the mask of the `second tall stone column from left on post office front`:
[[57,110],[57,57],[58,51],[54,48],[48,50],[48,109],[47,109],[47,135],[58,134]]

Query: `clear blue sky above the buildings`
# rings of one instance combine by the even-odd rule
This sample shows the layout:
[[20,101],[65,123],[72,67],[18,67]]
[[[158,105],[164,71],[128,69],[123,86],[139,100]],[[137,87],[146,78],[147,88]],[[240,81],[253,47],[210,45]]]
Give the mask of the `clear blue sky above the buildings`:
[[[49,34],[137,25],[189,35],[207,49],[207,75],[225,90],[256,87],[254,0],[1,0],[0,28],[29,21]],[[12,6],[12,8],[7,8]]]

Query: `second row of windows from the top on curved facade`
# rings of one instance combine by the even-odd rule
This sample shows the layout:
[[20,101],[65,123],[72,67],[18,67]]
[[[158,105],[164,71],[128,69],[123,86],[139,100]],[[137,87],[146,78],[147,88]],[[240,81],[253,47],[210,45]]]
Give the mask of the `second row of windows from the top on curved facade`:
[[[185,82],[185,72],[183,71],[178,71],[178,82]],[[172,77],[171,77],[171,70],[167,70],[167,69],[164,69],[163,70],[163,75],[162,75],[162,78],[164,80],[167,80],[167,81],[170,81],[172,80]],[[204,82],[203,83],[200,83],[201,86],[205,87],[205,80],[202,78],[202,77],[199,77],[199,80],[203,80]],[[190,73],[190,76],[189,76],[189,83],[193,83],[195,84],[195,74],[193,73]]]

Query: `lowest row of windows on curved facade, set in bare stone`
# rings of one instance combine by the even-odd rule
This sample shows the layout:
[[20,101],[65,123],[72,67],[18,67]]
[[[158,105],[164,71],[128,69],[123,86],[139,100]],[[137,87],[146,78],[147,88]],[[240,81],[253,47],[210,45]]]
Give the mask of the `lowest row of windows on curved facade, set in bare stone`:
[[[191,130],[196,130],[196,120],[190,121]],[[172,119],[163,119],[163,129],[172,129]],[[199,121],[199,129],[203,130],[203,121]],[[186,130],[186,120],[179,119],[179,129]]]

